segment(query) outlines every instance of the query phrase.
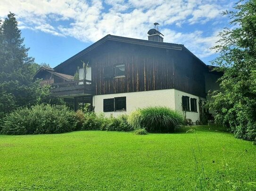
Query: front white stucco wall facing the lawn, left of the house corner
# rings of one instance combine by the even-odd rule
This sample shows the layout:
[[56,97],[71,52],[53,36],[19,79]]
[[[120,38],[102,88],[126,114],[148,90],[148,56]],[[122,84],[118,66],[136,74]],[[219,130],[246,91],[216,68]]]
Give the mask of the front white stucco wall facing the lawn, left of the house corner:
[[95,112],[103,112],[103,99],[126,97],[126,112],[104,112],[105,115],[117,116],[120,114],[129,114],[136,108],[143,108],[149,106],[166,106],[175,109],[174,89],[168,90],[154,90],[145,92],[130,92],[130,93],[115,93],[107,95],[93,96],[93,106]]

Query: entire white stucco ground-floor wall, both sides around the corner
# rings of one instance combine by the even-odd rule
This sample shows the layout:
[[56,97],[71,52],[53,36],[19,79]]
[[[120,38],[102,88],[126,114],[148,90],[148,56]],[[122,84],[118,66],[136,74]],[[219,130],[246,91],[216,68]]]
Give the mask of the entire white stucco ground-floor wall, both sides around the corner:
[[200,121],[199,117],[199,98],[198,96],[181,92],[174,89],[168,90],[154,90],[145,92],[130,92],[130,93],[116,93],[107,95],[93,96],[93,106],[96,113],[103,113],[103,99],[126,97],[126,111],[104,112],[105,115],[117,116],[120,114],[129,114],[136,108],[143,108],[149,106],[166,106],[178,110],[182,115],[182,96],[189,96],[190,98],[197,99],[198,112],[186,112],[187,119],[192,122]]

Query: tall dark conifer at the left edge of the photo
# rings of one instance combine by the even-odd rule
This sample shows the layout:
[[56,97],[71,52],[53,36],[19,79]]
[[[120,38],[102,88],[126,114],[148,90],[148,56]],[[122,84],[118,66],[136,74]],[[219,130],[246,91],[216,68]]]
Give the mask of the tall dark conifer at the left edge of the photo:
[[38,101],[38,82],[33,82],[32,64],[28,48],[23,44],[21,31],[13,13],[0,21],[0,117],[18,106]]

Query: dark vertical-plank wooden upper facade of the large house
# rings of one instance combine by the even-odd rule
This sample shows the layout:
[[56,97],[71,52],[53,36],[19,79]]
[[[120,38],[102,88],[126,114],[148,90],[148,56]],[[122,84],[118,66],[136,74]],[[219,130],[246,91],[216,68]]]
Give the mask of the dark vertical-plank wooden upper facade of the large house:
[[[82,67],[81,60],[89,61],[95,95],[175,88],[200,97],[206,96],[206,65],[184,46],[162,43],[168,46],[159,47],[161,43],[158,42],[139,40],[142,43],[136,44],[129,42],[131,38],[127,39],[126,42],[106,40],[55,69],[74,75],[77,66]],[[104,67],[116,64],[125,64],[125,77],[104,79]]]

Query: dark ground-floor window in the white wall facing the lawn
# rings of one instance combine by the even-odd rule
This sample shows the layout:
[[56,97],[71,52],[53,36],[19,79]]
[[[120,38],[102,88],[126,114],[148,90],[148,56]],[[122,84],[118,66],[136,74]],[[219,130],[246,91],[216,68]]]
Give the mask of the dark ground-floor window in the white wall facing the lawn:
[[103,112],[126,111],[126,97],[103,99]]

